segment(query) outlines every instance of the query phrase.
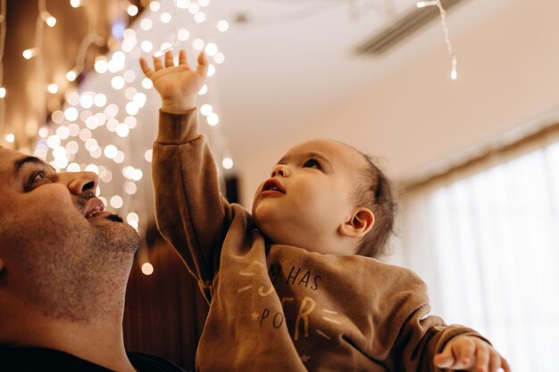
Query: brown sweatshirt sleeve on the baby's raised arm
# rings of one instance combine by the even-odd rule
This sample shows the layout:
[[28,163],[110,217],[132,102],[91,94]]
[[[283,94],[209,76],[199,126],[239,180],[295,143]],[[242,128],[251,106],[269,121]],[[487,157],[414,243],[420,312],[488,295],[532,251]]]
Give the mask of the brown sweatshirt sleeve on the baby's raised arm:
[[173,244],[209,300],[231,207],[221,195],[217,166],[197,110],[160,112],[152,174],[157,226]]

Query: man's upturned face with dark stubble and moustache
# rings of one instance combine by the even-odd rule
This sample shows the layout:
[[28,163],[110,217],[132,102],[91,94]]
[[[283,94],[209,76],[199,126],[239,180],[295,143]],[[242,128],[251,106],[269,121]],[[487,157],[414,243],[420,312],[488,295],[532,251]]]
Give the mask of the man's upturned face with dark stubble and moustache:
[[103,211],[97,182],[95,173],[57,173],[35,157],[0,148],[0,260],[26,300],[55,307],[62,299],[53,297],[62,292],[68,304],[72,295],[83,302],[85,292],[96,292],[89,288],[96,277],[129,264],[138,233]]

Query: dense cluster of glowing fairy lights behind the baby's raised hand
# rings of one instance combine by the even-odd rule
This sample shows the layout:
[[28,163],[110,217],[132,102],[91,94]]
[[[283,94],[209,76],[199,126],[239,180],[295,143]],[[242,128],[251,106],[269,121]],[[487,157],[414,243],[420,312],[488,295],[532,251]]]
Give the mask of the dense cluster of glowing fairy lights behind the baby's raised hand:
[[[121,45],[110,55],[97,57],[94,68],[97,74],[110,76],[110,87],[113,88],[111,95],[124,95],[126,102],[119,105],[112,99],[112,103],[108,103],[107,95],[87,88],[80,89],[80,92],[73,91],[66,95],[66,107],[52,113],[52,121],[56,127],[39,129],[40,139],[34,154],[47,160],[52,158],[49,162],[54,168],[67,171],[84,169],[95,171],[105,184],[113,181],[116,177],[115,171],[121,171],[124,177],[123,193],[115,193],[105,199],[100,195],[104,188],[101,185],[98,188],[98,194],[104,203],[114,209],[129,211],[126,219],[131,226],[137,229],[139,216],[137,211],[134,211],[133,196],[138,193],[138,181],[144,176],[142,172],[144,164],[138,163],[137,159],[130,156],[129,150],[132,146],[124,140],[130,137],[131,131],[138,128],[138,114],[146,105],[146,94],[148,90],[152,89],[152,82],[146,78],[142,79],[138,70],[130,69],[127,61],[133,60],[137,64],[140,53],[158,56],[166,50],[178,47],[180,43],[190,41],[191,31],[179,27],[177,21],[179,12],[188,11],[195,24],[202,24],[207,20],[203,10],[209,3],[209,0],[196,2],[177,0],[172,4],[173,16],[171,12],[162,9],[162,3],[152,1],[149,9],[156,16],[144,17],[139,22],[138,31],[124,28],[117,22],[113,26],[113,34],[116,34],[114,35],[116,37],[121,34]],[[72,6],[75,5],[80,4],[76,1],[72,2]],[[138,8],[133,4],[127,4],[126,11],[130,16],[134,16],[138,13]],[[156,27],[152,18],[158,19],[157,21],[163,25],[169,24],[173,18],[175,19],[173,36],[159,46],[154,45],[155,43],[151,39],[153,33],[150,31]],[[43,16],[42,19],[45,22],[51,20],[53,26],[55,24],[52,18]],[[229,24],[226,21],[219,21],[216,24],[216,29],[219,31],[226,31],[228,28]],[[88,45],[91,42],[102,42],[101,37],[96,35],[95,29],[90,29],[89,35],[84,38],[82,45]],[[213,63],[210,64],[208,71],[208,77],[212,77],[215,74],[215,65],[224,62],[224,55],[221,54],[217,45],[205,43],[201,37],[194,38],[191,46],[196,51],[204,49],[205,53],[213,58]],[[79,54],[81,55],[77,58],[76,67],[66,74],[67,79],[75,79],[80,69],[83,69],[82,58],[85,58],[84,50],[86,49],[87,46],[80,47]],[[205,85],[199,95],[206,95],[207,92],[208,86]],[[219,115],[214,111],[212,104],[204,103],[200,112],[206,118],[208,125],[217,126],[219,124]],[[109,136],[106,131],[110,132]],[[106,142],[107,138],[111,139],[110,143]],[[122,140],[119,141],[120,139]],[[88,163],[77,161],[80,147],[85,147],[90,158]],[[151,162],[151,149],[145,149],[143,155],[143,161]],[[222,165],[225,169],[231,168],[232,160],[229,157],[225,158]]]

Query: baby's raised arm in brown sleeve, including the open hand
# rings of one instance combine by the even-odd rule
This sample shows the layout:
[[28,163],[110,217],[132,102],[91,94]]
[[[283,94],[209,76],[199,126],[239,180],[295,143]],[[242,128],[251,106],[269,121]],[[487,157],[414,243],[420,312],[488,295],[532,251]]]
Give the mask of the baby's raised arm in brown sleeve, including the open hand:
[[[140,59],[163,100],[152,163],[157,225],[207,289],[218,266],[231,209],[221,196],[210,148],[198,133],[196,96],[208,70],[204,53],[197,62],[196,70],[191,69],[184,50],[176,66],[171,51],[164,54],[163,62],[154,57],[153,70]],[[207,298],[208,291],[204,293]]]

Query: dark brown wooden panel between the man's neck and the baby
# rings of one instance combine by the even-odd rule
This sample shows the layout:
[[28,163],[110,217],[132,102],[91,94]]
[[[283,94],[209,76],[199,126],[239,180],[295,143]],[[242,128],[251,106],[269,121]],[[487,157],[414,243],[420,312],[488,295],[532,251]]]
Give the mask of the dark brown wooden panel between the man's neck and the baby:
[[130,273],[123,322],[127,350],[194,370],[208,306],[171,244],[157,240],[148,252],[154,273],[144,275],[137,262]]

